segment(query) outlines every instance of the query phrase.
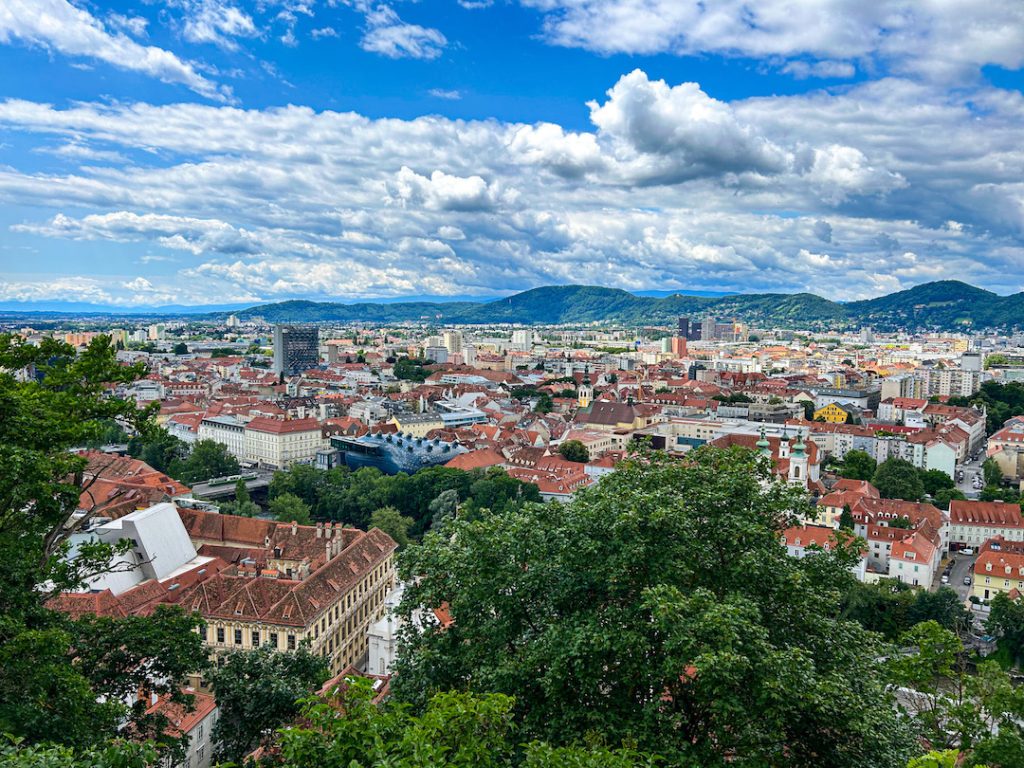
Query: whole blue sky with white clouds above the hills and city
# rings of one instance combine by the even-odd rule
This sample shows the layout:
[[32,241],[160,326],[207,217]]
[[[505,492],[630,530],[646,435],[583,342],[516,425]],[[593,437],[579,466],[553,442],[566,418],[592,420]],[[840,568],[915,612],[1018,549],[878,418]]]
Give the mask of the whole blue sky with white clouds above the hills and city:
[[1021,0],[0,0],[0,302],[1024,290]]

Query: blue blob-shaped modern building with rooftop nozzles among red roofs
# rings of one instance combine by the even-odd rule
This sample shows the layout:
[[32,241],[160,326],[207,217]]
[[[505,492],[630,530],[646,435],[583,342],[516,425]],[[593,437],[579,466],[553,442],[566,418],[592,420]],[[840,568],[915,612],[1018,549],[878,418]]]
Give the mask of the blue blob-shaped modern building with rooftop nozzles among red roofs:
[[446,464],[468,451],[459,442],[397,434],[335,435],[331,449],[316,457],[317,466],[329,469],[345,464],[349,469],[376,467],[385,474],[414,474],[421,469]]

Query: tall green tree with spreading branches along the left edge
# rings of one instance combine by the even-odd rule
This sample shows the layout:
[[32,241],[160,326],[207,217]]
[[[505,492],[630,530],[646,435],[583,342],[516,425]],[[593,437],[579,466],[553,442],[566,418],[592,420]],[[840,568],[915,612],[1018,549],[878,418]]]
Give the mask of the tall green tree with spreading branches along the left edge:
[[177,695],[185,673],[205,659],[194,642],[198,620],[178,610],[73,621],[48,607],[131,548],[86,540],[72,550],[93,510],[78,514],[91,481],[85,459],[69,449],[97,439],[112,420],[153,434],[153,409],[109,396],[143,373],[121,366],[106,336],[76,352],[53,339],[0,335],[0,732],[23,745],[88,749],[114,738],[122,723],[162,734],[166,721],[140,715],[125,689]]

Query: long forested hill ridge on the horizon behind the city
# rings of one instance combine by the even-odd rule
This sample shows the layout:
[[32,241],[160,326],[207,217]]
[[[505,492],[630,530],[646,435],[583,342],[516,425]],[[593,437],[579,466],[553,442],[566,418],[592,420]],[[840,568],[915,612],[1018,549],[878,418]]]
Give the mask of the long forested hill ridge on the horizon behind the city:
[[713,315],[794,329],[871,326],[879,330],[972,330],[1024,327],[1024,293],[999,296],[958,281],[926,283],[866,301],[840,303],[810,293],[637,296],[614,288],[548,286],[485,303],[285,301],[237,312],[271,323],[668,324],[679,315]]

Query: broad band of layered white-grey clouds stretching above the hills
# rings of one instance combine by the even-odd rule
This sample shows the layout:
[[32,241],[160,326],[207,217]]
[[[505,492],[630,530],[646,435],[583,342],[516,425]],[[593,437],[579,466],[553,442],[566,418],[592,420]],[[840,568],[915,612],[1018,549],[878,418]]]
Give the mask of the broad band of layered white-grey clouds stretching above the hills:
[[[63,169],[0,168],[0,200],[47,209],[22,242],[135,249],[128,276],[82,284],[125,301],[136,276],[194,303],[572,282],[850,299],[963,274],[1019,289],[1019,95],[889,79],[726,104],[634,73],[591,109],[593,130],[573,131],[11,99],[5,135],[131,161],[72,148]],[[156,257],[178,271],[138,265]]]

